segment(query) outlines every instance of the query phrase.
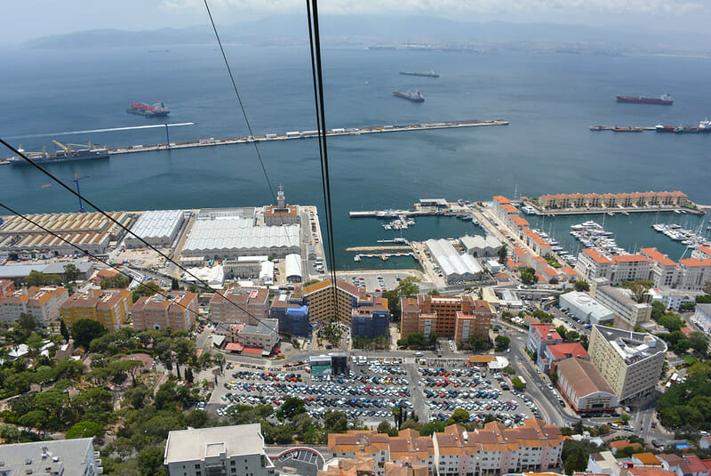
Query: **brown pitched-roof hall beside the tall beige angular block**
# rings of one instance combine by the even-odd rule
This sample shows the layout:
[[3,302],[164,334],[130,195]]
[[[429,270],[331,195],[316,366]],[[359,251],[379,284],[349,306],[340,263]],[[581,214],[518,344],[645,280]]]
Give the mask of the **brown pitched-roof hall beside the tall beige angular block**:
[[618,406],[617,395],[589,360],[571,357],[557,367],[556,385],[576,412],[610,411]]

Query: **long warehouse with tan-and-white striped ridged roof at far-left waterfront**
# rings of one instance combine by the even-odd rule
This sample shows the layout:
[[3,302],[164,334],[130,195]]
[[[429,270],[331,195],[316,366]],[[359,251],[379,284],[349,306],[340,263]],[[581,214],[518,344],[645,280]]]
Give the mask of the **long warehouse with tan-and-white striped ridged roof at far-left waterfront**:
[[[130,214],[108,212],[128,227]],[[28,219],[59,235],[69,243],[91,254],[104,254],[108,245],[124,236],[124,230],[99,212],[84,214],[30,214]],[[0,259],[22,253],[46,253],[50,256],[76,254],[76,248],[51,235],[20,216],[3,216],[0,220]]]

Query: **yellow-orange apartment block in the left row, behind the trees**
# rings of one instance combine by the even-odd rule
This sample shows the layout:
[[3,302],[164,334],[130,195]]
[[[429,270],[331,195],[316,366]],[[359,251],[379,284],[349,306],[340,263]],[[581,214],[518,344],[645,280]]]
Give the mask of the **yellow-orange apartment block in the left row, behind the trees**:
[[126,324],[131,303],[128,289],[90,289],[72,295],[61,305],[60,313],[69,328],[78,320],[92,319],[115,331]]

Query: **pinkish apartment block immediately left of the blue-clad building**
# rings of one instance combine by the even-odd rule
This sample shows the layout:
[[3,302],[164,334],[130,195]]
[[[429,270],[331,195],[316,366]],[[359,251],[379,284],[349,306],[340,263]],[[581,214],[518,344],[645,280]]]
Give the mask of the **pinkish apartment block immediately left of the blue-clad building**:
[[210,299],[212,322],[254,326],[269,317],[269,291],[265,287],[230,287]]

